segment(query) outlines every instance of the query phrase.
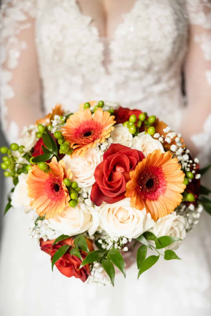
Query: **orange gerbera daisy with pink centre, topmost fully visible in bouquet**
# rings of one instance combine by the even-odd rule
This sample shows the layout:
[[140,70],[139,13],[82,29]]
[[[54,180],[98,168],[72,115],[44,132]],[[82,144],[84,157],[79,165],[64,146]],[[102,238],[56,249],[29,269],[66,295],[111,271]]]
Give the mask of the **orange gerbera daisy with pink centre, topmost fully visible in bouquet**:
[[87,149],[94,148],[97,143],[103,143],[114,130],[114,118],[100,107],[93,117],[90,109],[71,115],[62,128],[62,134],[73,149],[72,155],[83,156]]

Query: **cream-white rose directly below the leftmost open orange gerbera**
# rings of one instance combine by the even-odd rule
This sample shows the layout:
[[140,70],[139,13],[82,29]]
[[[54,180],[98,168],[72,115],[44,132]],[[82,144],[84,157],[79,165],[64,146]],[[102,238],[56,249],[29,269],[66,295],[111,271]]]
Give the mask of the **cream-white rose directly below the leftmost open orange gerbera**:
[[89,210],[78,203],[75,208],[66,208],[61,214],[49,218],[49,227],[65,235],[77,235],[88,230],[93,235],[99,226],[99,213],[93,207]]

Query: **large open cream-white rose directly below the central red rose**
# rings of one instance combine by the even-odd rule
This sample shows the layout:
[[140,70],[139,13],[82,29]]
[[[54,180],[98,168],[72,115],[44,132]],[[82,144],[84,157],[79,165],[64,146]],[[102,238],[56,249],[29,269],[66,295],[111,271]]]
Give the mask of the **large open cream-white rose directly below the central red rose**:
[[131,207],[129,199],[104,204],[100,210],[100,227],[111,237],[137,238],[154,225],[151,215]]

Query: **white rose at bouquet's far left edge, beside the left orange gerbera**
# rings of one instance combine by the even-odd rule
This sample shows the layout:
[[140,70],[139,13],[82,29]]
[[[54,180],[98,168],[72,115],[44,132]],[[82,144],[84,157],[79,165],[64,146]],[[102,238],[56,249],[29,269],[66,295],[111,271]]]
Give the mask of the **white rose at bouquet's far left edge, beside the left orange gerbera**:
[[30,206],[33,198],[28,197],[27,191],[27,181],[28,174],[21,173],[18,176],[18,184],[15,187],[15,190],[12,194],[11,205],[16,209],[19,207],[23,207],[25,213],[32,211],[32,207]]

